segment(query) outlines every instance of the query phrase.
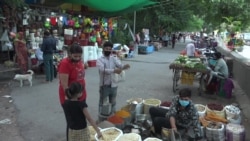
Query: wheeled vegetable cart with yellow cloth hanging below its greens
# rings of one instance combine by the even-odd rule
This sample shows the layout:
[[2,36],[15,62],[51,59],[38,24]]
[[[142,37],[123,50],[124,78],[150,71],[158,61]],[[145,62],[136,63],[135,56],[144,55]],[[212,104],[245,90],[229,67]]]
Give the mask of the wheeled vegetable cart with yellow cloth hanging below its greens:
[[200,95],[205,90],[204,77],[208,73],[206,66],[200,58],[188,58],[180,55],[169,65],[173,70],[173,92],[176,92],[178,85],[193,85],[195,77],[198,78]]

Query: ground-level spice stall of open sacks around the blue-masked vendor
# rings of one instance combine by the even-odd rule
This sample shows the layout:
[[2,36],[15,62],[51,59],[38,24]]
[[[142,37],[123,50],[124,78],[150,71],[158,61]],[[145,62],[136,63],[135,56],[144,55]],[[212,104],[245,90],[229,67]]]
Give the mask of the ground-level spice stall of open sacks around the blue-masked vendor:
[[[91,132],[91,141],[182,141],[188,133],[171,129],[162,129],[162,138],[154,137],[149,107],[169,109],[171,102],[158,99],[132,98],[127,100],[115,114],[103,119],[108,126],[102,126],[103,138],[97,138]],[[237,105],[220,103],[195,104],[201,124],[201,136],[208,141],[245,141],[245,128],[241,125],[241,111]],[[100,124],[99,124],[100,125]],[[100,125],[101,126],[101,125]],[[92,129],[93,130],[93,129]]]

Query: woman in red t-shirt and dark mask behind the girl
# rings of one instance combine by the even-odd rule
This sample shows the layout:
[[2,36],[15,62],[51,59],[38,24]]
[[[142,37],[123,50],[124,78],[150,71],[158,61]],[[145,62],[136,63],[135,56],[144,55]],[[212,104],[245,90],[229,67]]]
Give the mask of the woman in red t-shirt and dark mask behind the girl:
[[[65,90],[73,82],[79,82],[85,88],[85,69],[82,62],[82,48],[78,44],[73,44],[69,48],[68,57],[61,60],[58,73],[59,73],[59,97],[61,105],[64,103],[66,95]],[[84,89],[79,101],[86,100],[86,90]]]

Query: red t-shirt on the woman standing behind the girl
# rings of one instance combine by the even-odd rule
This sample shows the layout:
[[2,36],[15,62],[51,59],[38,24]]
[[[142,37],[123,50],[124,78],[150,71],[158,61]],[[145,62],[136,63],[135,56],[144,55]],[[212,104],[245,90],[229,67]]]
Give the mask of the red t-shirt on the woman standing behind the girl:
[[[58,73],[59,74],[68,74],[69,80],[68,84],[70,85],[73,82],[79,82],[82,84],[84,90],[82,93],[82,96],[79,98],[79,101],[83,101],[87,97],[86,89],[85,89],[85,69],[84,64],[82,61],[80,62],[72,62],[69,58],[64,58],[58,67]],[[61,81],[59,82],[59,97],[60,97],[60,103],[63,104],[65,101],[65,92],[62,87]]]

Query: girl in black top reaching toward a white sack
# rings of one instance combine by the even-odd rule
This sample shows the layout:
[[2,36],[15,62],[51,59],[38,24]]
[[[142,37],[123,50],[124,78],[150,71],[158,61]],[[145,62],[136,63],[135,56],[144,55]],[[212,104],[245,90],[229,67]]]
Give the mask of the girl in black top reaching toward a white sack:
[[68,141],[89,141],[90,133],[87,127],[86,119],[94,127],[97,132],[98,137],[102,134],[98,127],[96,126],[94,120],[91,118],[85,101],[78,101],[81,97],[83,86],[74,82],[69,88],[65,90],[67,100],[63,103],[63,110],[66,116],[66,121],[68,125],[67,140]]

